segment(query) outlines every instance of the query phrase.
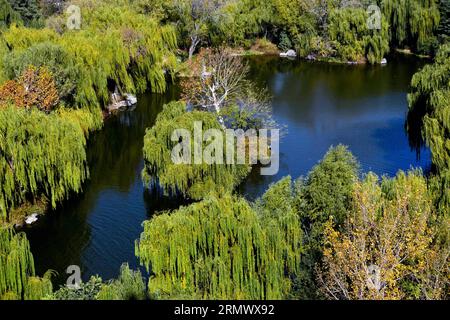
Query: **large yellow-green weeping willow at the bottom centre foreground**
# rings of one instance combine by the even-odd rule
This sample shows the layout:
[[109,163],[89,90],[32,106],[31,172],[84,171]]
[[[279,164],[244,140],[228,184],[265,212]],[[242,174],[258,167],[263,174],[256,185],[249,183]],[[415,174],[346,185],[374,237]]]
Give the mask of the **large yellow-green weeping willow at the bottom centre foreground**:
[[[281,183],[274,193],[283,193],[290,180]],[[145,222],[136,254],[152,273],[150,296],[285,298],[299,271],[302,237],[293,206],[284,201],[272,211],[266,207],[272,198],[262,199],[265,210],[258,214],[244,199],[208,196]]]

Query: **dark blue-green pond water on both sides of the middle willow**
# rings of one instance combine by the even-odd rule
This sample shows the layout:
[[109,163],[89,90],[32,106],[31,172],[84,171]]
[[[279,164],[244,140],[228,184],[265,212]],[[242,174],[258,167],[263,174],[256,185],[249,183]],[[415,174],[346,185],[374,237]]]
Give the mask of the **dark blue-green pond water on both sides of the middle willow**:
[[[406,93],[420,62],[390,60],[387,66],[347,66],[278,58],[251,60],[252,78],[273,95],[274,116],[288,126],[280,145],[280,171],[260,176],[255,170],[240,187],[249,199],[290,174],[305,175],[331,145],[346,144],[363,172],[394,175],[398,170],[430,164],[430,155],[412,150],[404,130]],[[139,97],[134,111],[108,119],[92,136],[91,180],[80,196],[28,230],[38,273],[54,269],[65,277],[79,265],[83,278],[117,276],[123,262],[134,268],[134,241],[141,223],[155,211],[177,208],[179,199],[146,191],[140,172],[145,129],[162,105],[177,98],[174,87],[165,95]]]

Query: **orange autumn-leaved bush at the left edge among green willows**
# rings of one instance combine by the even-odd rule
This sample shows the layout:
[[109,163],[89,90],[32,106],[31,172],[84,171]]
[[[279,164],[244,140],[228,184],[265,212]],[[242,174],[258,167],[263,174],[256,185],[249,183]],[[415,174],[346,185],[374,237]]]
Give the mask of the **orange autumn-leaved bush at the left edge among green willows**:
[[37,107],[49,112],[58,102],[55,80],[46,67],[29,66],[18,79],[0,86],[0,106],[13,103],[19,108]]

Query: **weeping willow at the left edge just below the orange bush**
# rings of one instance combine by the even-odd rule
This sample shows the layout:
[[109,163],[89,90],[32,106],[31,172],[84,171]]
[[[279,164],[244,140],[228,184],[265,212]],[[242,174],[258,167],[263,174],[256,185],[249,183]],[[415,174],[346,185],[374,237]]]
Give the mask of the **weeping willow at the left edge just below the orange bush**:
[[76,120],[0,106],[0,220],[12,208],[47,198],[53,207],[88,177],[86,138]]

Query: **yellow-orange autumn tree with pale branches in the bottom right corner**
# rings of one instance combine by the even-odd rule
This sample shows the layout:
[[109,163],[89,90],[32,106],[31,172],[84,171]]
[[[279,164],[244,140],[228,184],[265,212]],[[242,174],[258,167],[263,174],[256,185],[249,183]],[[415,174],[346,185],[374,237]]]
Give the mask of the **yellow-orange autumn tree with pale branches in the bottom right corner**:
[[446,299],[450,247],[436,241],[434,214],[420,171],[381,184],[369,173],[343,228],[326,227],[321,290],[332,299]]

